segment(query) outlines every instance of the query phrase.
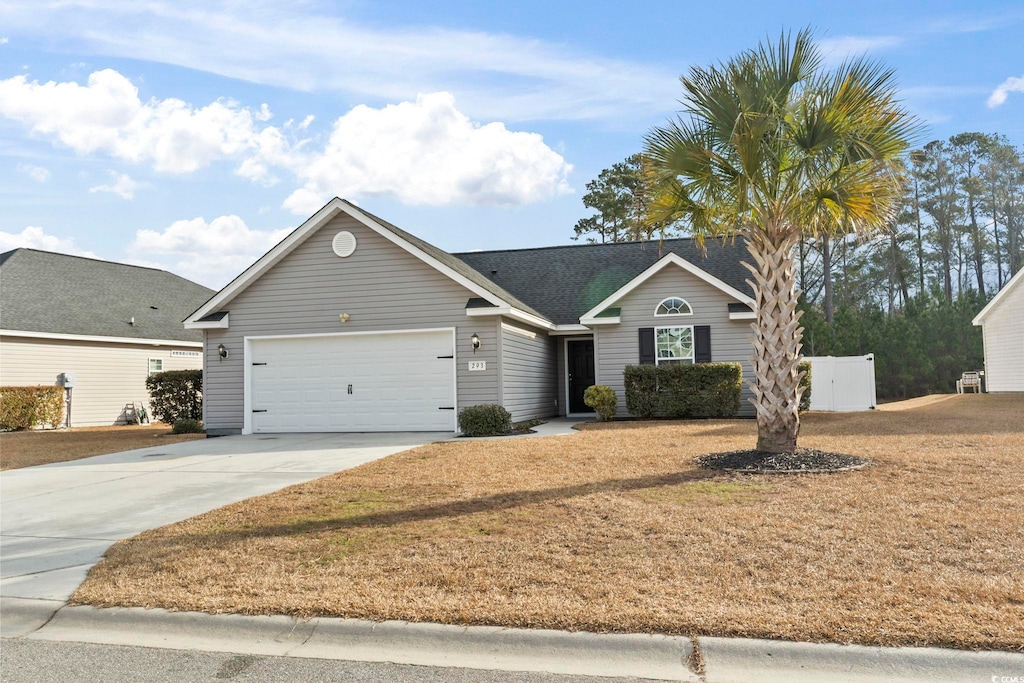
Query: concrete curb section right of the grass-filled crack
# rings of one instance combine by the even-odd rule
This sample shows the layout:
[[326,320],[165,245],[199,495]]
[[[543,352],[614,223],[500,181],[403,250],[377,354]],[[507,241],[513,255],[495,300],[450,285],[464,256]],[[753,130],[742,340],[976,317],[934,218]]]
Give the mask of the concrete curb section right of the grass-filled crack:
[[714,683],[965,683],[1024,681],[1024,654],[940,647],[872,647],[781,640],[700,638]]

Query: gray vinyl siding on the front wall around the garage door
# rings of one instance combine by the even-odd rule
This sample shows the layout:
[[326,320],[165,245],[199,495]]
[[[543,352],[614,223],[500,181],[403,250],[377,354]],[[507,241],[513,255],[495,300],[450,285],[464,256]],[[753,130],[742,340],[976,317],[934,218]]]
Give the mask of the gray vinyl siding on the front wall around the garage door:
[[[357,242],[348,258],[331,248],[340,230],[349,230]],[[247,336],[455,328],[458,408],[499,402],[498,318],[467,317],[472,296],[350,216],[338,216],[223,306],[230,312],[229,329],[207,331],[207,428],[216,433],[243,428]],[[349,321],[340,322],[340,313],[348,313]],[[476,353],[473,333],[480,337]],[[218,357],[218,344],[227,347],[226,359]],[[487,369],[470,373],[469,359],[484,360]]]

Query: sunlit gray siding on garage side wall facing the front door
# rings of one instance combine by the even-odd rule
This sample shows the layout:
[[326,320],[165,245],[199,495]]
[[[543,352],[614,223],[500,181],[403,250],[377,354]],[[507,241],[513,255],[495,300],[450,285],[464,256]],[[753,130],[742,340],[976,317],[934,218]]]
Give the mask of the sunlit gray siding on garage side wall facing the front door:
[[513,422],[558,414],[555,339],[542,330],[505,322],[502,346],[502,404]]

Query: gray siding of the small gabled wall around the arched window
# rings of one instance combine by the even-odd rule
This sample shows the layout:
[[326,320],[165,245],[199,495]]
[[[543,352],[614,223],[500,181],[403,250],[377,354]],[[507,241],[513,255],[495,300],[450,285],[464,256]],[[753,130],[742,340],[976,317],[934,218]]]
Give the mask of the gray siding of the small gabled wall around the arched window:
[[[692,315],[655,317],[654,309],[667,297],[685,299],[693,309]],[[740,362],[743,368],[743,392],[739,414],[754,415],[748,380],[753,378],[750,361],[751,321],[730,321],[728,304],[735,300],[682,268],[669,265],[652,275],[637,289],[612,304],[622,308],[618,325],[598,326],[594,331],[597,383],[606,384],[618,396],[620,417],[627,417],[626,388],[623,371],[626,366],[640,361],[640,328],[711,326],[711,353],[713,362]]]

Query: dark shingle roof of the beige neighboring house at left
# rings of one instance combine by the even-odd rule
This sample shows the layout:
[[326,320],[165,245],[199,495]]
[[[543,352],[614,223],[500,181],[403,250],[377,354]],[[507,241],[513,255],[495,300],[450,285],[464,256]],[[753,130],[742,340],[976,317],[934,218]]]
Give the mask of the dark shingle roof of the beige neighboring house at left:
[[181,321],[213,295],[166,270],[35,249],[0,254],[4,330],[202,341]]

